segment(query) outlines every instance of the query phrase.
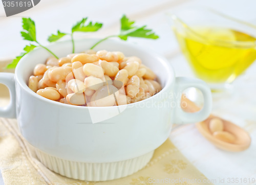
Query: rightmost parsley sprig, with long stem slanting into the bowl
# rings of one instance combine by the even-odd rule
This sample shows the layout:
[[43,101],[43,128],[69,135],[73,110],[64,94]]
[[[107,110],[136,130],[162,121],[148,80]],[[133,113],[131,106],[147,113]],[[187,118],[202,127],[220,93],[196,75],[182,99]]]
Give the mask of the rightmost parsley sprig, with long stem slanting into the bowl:
[[121,30],[118,35],[111,35],[108,37],[105,37],[101,40],[99,40],[97,43],[93,45],[91,48],[94,49],[96,45],[98,45],[100,42],[109,39],[111,37],[119,37],[122,40],[127,40],[128,37],[141,37],[141,38],[150,38],[150,39],[158,39],[159,36],[156,35],[151,29],[147,29],[146,26],[137,27],[134,26],[135,21],[130,20],[126,17],[126,15],[123,15],[120,19],[121,22]]

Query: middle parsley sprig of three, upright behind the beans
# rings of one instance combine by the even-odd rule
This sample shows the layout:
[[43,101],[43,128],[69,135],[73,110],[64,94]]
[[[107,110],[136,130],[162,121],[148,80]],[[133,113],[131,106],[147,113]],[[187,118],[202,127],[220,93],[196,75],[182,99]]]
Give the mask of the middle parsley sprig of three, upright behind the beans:
[[73,34],[74,32],[95,32],[98,31],[101,27],[102,27],[102,23],[99,22],[95,22],[93,24],[92,21],[90,21],[87,25],[86,25],[86,21],[87,21],[87,17],[86,18],[82,18],[82,20],[78,21],[71,29],[71,33],[63,33],[60,32],[59,30],[57,31],[57,34],[54,35],[52,34],[51,36],[48,37],[48,41],[49,42],[54,42],[59,40],[61,37],[65,36],[65,35],[70,35],[71,36],[71,40],[72,40],[72,45],[73,45],[73,49],[72,49],[72,53],[75,52],[75,43],[74,43],[74,38],[73,38]]

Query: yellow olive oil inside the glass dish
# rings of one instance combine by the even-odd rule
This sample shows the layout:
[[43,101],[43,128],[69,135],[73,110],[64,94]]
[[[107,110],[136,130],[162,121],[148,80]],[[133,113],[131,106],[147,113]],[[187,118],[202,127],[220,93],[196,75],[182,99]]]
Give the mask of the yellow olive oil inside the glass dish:
[[227,28],[174,30],[182,52],[198,78],[230,83],[256,59],[256,38]]

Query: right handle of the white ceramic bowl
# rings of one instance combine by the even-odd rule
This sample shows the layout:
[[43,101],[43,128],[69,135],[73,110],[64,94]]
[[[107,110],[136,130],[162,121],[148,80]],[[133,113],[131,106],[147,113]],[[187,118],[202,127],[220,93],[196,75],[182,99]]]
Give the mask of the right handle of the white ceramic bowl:
[[[182,92],[189,87],[196,87],[201,90],[204,98],[204,106],[201,110],[193,104],[186,102],[183,102],[185,105],[181,104]],[[212,98],[210,88],[204,81],[193,78],[176,77],[174,97],[176,99],[176,105],[181,106],[176,106],[175,108],[173,123],[195,123],[201,122],[209,117],[212,108]],[[190,110],[190,112],[185,112],[182,107]]]

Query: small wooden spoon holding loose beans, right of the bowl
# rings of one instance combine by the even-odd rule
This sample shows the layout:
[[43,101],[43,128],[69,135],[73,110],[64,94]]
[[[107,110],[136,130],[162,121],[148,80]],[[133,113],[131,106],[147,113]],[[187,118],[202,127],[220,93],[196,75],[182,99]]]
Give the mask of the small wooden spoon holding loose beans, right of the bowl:
[[[191,102],[185,96],[182,96],[181,101],[187,103],[187,106],[183,109],[187,112],[196,112],[200,110],[200,108],[197,105],[195,105],[195,103]],[[209,129],[209,123],[210,123],[210,120],[213,118],[220,119],[223,122],[223,126],[224,126],[223,130],[234,135],[235,140],[233,143],[227,143],[227,142],[221,141],[212,135]],[[207,140],[209,140],[212,144],[214,144],[216,147],[222,150],[233,151],[233,152],[243,151],[247,149],[251,143],[251,138],[249,133],[246,132],[243,128],[212,114],[210,114],[209,117],[203,122],[196,123],[196,127],[199,130],[199,132],[205,138],[207,138]]]

